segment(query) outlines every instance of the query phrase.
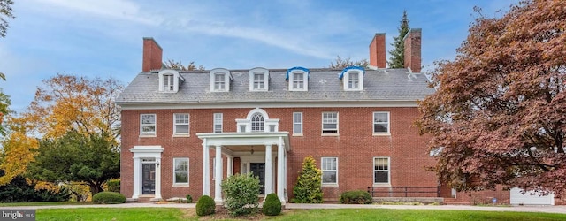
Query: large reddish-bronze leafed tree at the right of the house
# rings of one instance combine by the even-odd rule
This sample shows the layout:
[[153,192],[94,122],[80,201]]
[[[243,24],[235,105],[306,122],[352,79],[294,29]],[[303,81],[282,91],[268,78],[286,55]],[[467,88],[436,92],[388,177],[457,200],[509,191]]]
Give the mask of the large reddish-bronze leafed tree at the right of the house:
[[437,62],[417,126],[441,149],[442,182],[566,194],[564,24],[566,1],[524,1],[476,19],[455,60]]

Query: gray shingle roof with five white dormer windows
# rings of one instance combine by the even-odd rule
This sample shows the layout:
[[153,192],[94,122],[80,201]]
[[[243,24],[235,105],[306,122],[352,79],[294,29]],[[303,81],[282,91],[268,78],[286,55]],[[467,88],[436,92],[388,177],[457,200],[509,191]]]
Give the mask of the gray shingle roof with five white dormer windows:
[[158,91],[158,73],[141,72],[119,95],[117,103],[234,103],[416,101],[434,92],[423,73],[407,69],[366,70],[362,91],[345,91],[341,69],[310,69],[309,91],[289,91],[286,69],[269,70],[269,91],[249,91],[249,70],[231,70],[229,92],[210,92],[209,71],[180,72],[185,82],[177,93]]

